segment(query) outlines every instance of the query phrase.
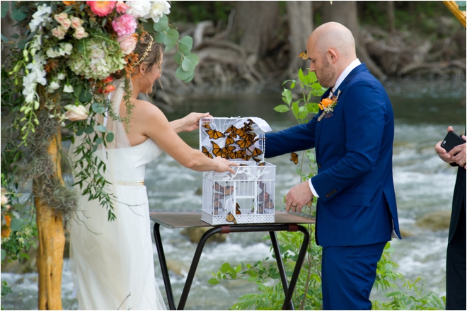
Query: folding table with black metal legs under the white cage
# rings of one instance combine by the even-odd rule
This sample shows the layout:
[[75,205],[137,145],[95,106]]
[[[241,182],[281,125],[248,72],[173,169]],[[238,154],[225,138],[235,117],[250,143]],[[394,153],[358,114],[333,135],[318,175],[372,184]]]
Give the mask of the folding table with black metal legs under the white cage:
[[[282,287],[284,288],[285,299],[282,305],[282,310],[294,310],[292,303],[292,294],[296,286],[296,281],[299,278],[300,269],[304,262],[306,249],[310,242],[310,235],[308,230],[299,223],[315,223],[315,218],[309,216],[306,213],[287,213],[286,211],[275,211],[275,222],[274,223],[246,223],[246,224],[227,224],[227,225],[209,225],[201,220],[201,211],[166,211],[166,210],[151,210],[151,220],[154,221],[154,240],[156,242],[157,254],[159,257],[159,263],[161,264],[161,271],[163,277],[163,283],[166,288],[167,300],[170,310],[183,310],[185,303],[190,293],[193,278],[200,262],[201,253],[207,239],[214,234],[226,234],[226,233],[238,233],[238,232],[269,232],[272,242],[272,248],[274,249],[276,262],[279,270],[279,275],[282,281]],[[175,309],[175,301],[173,299],[173,291],[171,286],[171,280],[168,276],[168,269],[166,263],[166,257],[163,252],[161,233],[159,231],[160,226],[163,225],[166,228],[192,228],[192,227],[213,227],[207,230],[202,235],[200,242],[198,242],[193,256],[190,271],[188,272],[187,280],[183,288],[178,308]],[[284,263],[279,251],[279,244],[277,242],[276,231],[300,231],[304,234],[304,240],[301,244],[299,257],[296,260],[296,266],[290,279],[290,284],[287,281],[285,274]]]

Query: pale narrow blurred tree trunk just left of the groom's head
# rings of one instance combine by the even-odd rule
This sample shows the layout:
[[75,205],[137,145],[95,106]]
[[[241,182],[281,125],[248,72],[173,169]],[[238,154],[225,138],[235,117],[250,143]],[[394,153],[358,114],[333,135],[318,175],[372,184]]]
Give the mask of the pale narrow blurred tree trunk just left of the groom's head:
[[311,1],[287,1],[289,22],[290,61],[287,76],[296,76],[304,60],[297,57],[306,50],[306,42],[313,31],[313,9]]

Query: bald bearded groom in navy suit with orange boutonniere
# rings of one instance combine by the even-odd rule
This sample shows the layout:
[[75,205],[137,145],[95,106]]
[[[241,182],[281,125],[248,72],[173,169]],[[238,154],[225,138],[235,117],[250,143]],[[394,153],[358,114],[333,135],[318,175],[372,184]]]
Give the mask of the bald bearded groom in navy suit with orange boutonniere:
[[[313,196],[324,310],[370,310],[376,264],[386,242],[400,238],[392,175],[393,109],[381,83],[355,54],[354,37],[325,23],[306,44],[310,70],[334,100],[310,122],[266,134],[265,156],[315,148],[318,174],[286,196],[301,211]],[[335,96],[335,97],[333,97]]]

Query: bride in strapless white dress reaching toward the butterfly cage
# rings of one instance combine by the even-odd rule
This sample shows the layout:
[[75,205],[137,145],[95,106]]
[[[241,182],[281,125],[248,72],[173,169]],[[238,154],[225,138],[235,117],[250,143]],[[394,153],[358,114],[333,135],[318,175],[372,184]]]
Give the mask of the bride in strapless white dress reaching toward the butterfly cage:
[[[122,79],[111,94],[113,117],[100,120],[115,134],[96,155],[105,162],[105,178],[115,195],[115,221],[97,200],[81,197],[80,213],[71,223],[70,265],[74,288],[82,310],[165,310],[154,278],[154,259],[149,221],[149,204],[144,187],[146,163],[166,151],[185,168],[196,171],[233,170],[224,158],[207,158],[178,136],[180,131],[198,128],[208,113],[191,113],[168,122],[150,102],[138,100],[139,93],[151,93],[161,76],[162,47],[150,35],[137,44],[138,61],[133,64],[131,113],[125,105]],[[119,77],[117,77],[119,78]],[[123,102],[124,105],[120,105]],[[115,115],[129,117],[125,124]],[[99,120],[98,120],[99,122]],[[73,148],[71,148],[73,150]]]

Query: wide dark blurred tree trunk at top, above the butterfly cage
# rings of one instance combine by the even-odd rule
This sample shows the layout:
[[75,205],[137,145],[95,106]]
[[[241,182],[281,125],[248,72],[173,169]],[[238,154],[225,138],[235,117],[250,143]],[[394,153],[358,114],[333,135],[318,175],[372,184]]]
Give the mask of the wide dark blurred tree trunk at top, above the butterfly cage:
[[279,29],[277,1],[236,1],[233,33],[240,37],[240,46],[262,57]]

